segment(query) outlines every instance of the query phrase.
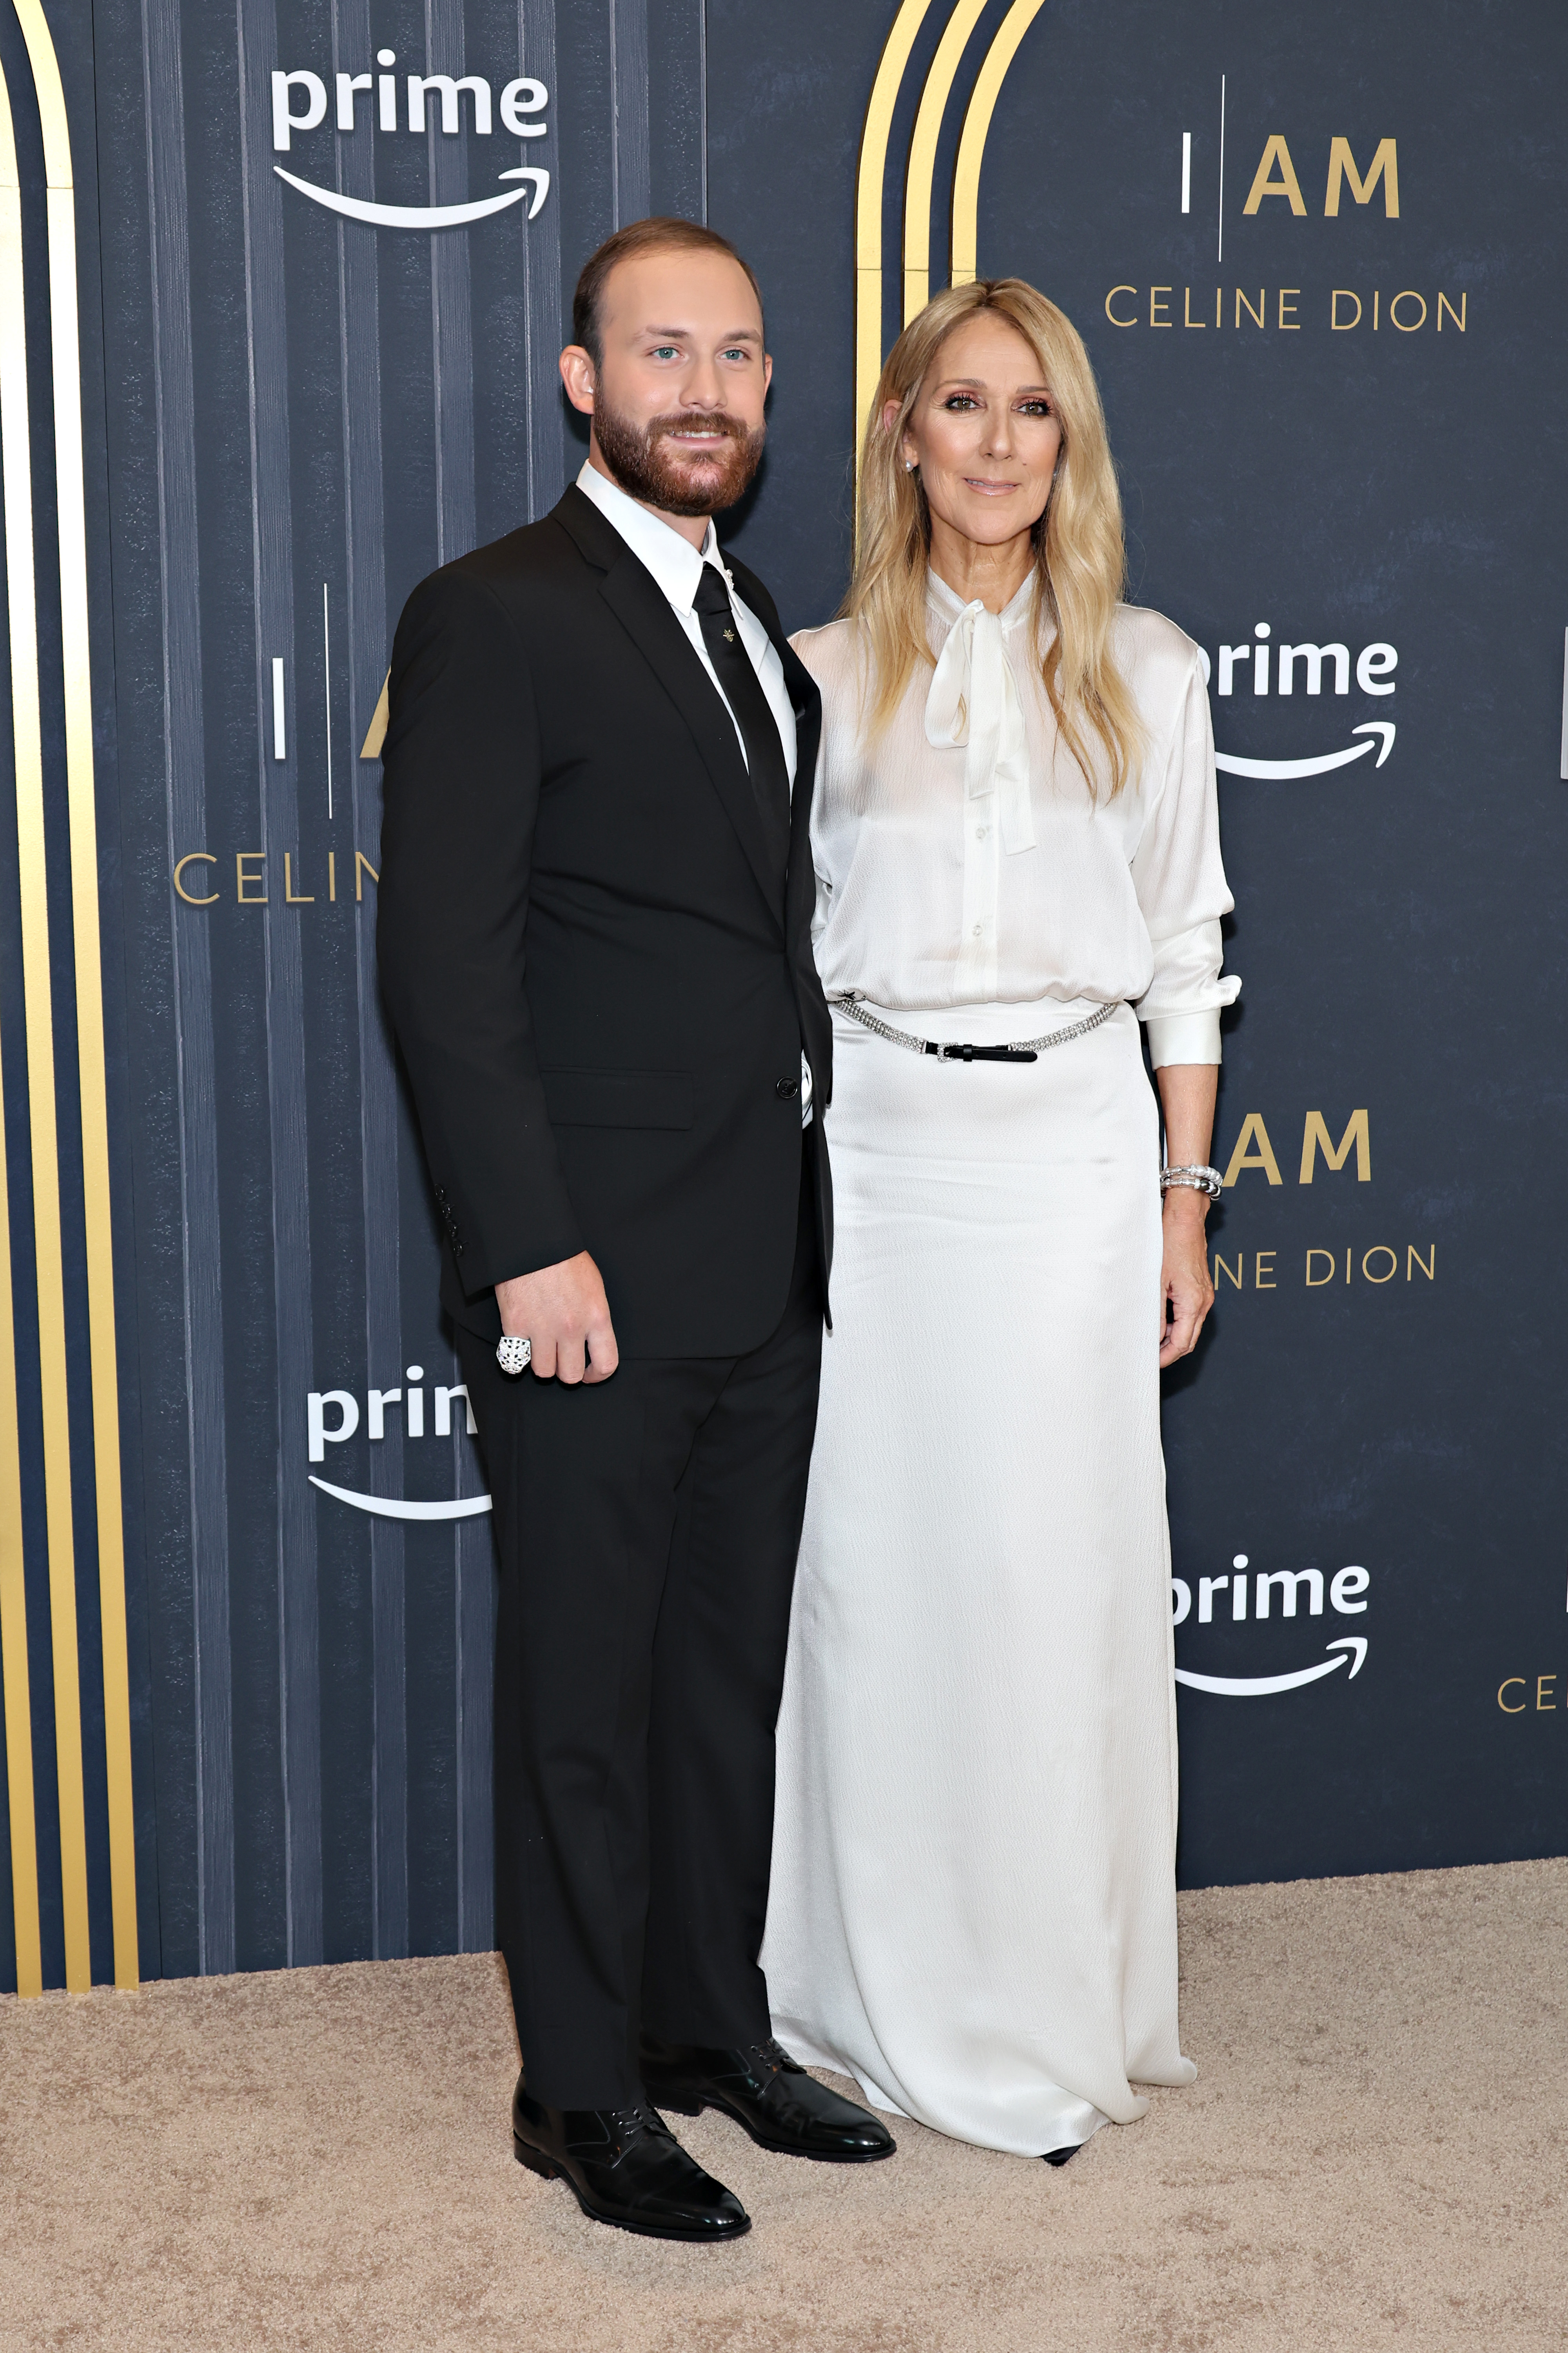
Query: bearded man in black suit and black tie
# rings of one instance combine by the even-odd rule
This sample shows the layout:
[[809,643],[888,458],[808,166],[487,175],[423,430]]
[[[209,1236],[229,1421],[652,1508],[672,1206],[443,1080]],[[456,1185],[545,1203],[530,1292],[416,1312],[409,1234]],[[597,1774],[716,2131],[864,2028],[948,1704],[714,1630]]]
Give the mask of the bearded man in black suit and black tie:
[[712,529],[762,459],[750,268],[637,221],[574,336],[576,487],[397,628],[378,948],[501,1541],[515,2151],[722,2240],[745,2209],[651,2101],[893,2148],[771,2042],[757,1967],[832,1247],[820,708]]

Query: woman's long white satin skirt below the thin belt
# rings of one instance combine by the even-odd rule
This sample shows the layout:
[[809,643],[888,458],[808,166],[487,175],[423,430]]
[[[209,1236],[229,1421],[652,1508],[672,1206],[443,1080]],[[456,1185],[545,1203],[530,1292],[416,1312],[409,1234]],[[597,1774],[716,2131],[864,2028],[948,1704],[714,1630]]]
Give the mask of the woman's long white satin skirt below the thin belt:
[[[884,1014],[997,1045],[1091,1005]],[[1159,1127],[1138,1021],[938,1064],[835,1009],[832,1334],[778,1718],[773,2031],[1044,2155],[1192,2082]]]

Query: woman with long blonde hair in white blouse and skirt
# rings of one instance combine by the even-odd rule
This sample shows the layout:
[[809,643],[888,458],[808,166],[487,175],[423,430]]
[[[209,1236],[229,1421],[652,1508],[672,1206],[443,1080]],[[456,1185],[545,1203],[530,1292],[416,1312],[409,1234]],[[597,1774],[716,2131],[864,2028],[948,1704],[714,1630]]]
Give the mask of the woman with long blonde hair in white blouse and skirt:
[[860,485],[795,640],[837,1254],[762,1958],[795,2057],[1060,2165],[1194,2073],[1159,1367],[1213,1301],[1239,988],[1208,699],[1119,602],[1093,372],[1034,287],[903,332]]

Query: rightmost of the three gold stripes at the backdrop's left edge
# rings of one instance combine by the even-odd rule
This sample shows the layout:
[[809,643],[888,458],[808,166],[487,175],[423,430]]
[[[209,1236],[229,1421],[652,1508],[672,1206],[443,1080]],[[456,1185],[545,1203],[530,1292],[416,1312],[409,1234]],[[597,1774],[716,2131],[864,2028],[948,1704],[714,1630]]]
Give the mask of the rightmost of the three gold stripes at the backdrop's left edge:
[[66,798],[75,934],[75,1052],[82,1094],[82,1207],[87,1226],[87,1334],[92,1348],[92,1452],[99,1506],[99,1617],[108,1779],[108,1880],[115,1984],[134,1986],[136,1814],[132,1800],[132,1680],[125,1633],[125,1518],[120,1499],[120,1365],[115,1344],[115,1238],[108,1181],[108,1075],[99,925],[99,812],[92,758],[92,647],[87,628],[87,504],[82,456],[82,348],[75,278],[71,122],[54,40],[40,0],[14,0],[28,45],[45,139],[49,207],[49,339],[54,358],[54,471],[59,600],[66,673]]

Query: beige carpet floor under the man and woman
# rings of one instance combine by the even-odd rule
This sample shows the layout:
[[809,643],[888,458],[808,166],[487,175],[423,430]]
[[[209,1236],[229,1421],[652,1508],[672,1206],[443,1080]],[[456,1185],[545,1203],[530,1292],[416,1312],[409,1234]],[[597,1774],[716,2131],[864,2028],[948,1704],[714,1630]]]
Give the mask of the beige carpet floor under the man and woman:
[[1023,2353],[1568,2344],[1568,1861],[1182,1897],[1190,2092],[1063,2172],[682,2125],[733,2247],[510,2155],[498,1965],[0,2002],[0,2346]]

